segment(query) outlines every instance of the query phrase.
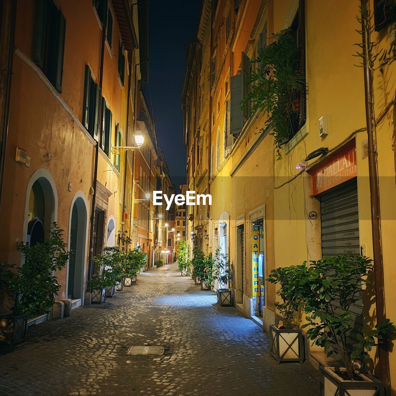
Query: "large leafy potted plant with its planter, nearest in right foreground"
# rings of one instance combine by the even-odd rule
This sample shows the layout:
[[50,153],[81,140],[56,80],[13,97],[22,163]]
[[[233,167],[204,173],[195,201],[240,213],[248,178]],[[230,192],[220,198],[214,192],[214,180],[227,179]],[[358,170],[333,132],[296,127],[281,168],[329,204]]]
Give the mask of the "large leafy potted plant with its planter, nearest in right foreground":
[[357,363],[369,357],[367,351],[373,346],[382,343],[386,347],[388,335],[396,328],[384,319],[366,334],[356,333],[356,340],[350,337],[354,328],[351,305],[358,301],[359,293],[365,292],[361,285],[369,283],[372,260],[360,255],[333,256],[309,264],[301,269],[303,277],[299,277],[304,311],[310,314],[302,327],[309,327],[307,337],[344,366],[321,369],[322,395],[344,396],[352,394],[351,389],[358,394],[383,395],[383,384],[366,374],[364,366],[359,369]]

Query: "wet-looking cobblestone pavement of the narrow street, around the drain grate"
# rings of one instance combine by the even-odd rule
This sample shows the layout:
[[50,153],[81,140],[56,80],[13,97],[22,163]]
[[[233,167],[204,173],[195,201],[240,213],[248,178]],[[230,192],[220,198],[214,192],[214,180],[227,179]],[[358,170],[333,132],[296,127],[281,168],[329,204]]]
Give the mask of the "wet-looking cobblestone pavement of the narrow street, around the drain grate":
[[[0,356],[0,394],[319,394],[312,366],[276,364],[259,326],[176,271],[139,274],[103,305],[30,327]],[[127,354],[133,345],[163,345],[165,354]]]

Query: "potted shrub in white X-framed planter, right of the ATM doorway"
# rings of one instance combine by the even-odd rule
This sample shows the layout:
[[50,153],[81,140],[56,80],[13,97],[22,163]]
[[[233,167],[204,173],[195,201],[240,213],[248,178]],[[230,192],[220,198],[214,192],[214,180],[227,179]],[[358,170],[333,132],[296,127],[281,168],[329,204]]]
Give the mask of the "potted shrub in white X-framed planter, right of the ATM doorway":
[[276,291],[281,301],[274,303],[283,317],[278,325],[270,325],[270,351],[278,364],[281,362],[304,361],[304,337],[301,329],[293,326],[295,313],[301,303],[301,294],[298,291],[298,276],[300,268],[285,267],[272,270],[267,279],[268,282],[277,284]]

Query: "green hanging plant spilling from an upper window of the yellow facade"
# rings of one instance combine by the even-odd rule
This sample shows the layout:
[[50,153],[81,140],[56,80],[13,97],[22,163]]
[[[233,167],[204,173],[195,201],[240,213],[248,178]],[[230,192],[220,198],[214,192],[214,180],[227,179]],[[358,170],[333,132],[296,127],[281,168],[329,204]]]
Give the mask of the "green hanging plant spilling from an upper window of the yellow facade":
[[300,70],[300,50],[291,29],[272,34],[272,43],[259,50],[249,78],[249,92],[242,101],[249,103],[250,115],[257,110],[268,115],[275,147],[280,158],[280,146],[298,128],[301,90],[305,78]]

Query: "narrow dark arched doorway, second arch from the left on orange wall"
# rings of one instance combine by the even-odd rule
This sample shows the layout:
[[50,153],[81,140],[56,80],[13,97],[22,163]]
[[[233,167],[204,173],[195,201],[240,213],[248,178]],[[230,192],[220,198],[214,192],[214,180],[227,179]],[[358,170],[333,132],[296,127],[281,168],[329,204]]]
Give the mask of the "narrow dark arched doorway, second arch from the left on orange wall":
[[69,227],[70,259],[67,269],[67,298],[70,299],[83,297],[87,218],[86,203],[81,196],[77,196],[72,204]]

